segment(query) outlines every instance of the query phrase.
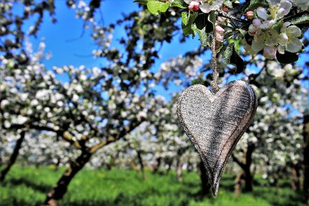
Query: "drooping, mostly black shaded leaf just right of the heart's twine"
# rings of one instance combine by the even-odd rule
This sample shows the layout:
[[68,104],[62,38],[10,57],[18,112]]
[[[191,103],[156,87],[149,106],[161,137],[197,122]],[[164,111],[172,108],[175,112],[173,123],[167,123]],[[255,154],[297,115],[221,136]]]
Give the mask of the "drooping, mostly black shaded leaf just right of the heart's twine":
[[235,73],[241,73],[244,71],[244,60],[240,58],[239,54],[236,52],[235,43],[231,43],[225,49],[225,53],[223,54],[225,57],[225,63],[227,65],[235,65],[236,71]]

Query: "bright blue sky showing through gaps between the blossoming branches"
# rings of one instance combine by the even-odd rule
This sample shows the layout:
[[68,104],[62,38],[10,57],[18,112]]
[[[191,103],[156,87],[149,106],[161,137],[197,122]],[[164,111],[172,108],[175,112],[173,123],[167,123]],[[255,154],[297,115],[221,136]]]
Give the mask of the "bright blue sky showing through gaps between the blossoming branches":
[[[89,3],[89,1],[86,1],[86,3]],[[33,37],[30,39],[34,46],[34,51],[36,51],[38,43],[44,41],[46,45],[45,52],[52,52],[52,58],[43,62],[47,69],[52,69],[53,66],[63,67],[65,65],[73,65],[75,67],[79,67],[80,65],[85,65],[86,67],[100,67],[104,65],[104,60],[102,58],[95,59],[92,56],[93,49],[98,49],[98,47],[91,39],[91,29],[84,30],[83,36],[80,37],[84,21],[76,19],[76,10],[67,8],[65,0],[56,0],[55,4],[57,22],[52,23],[49,14],[45,12],[43,24],[41,25],[41,30],[37,34],[37,38]],[[115,23],[117,19],[121,19],[122,13],[128,14],[133,10],[139,10],[139,8],[137,3],[133,3],[131,0],[106,0],[102,1],[101,5],[105,25]],[[17,13],[22,12],[22,8],[17,7],[14,11]],[[98,12],[97,15],[99,15]],[[32,23],[33,19],[27,21],[24,29],[27,30]],[[124,35],[124,30],[119,27],[116,28],[113,34],[113,44],[117,47],[116,40]],[[159,69],[159,66],[165,60],[198,48],[199,42],[197,37],[193,40],[189,39],[186,43],[180,44],[178,39],[181,35],[181,32],[179,32],[179,35],[174,38],[172,43],[163,44],[159,52],[162,58],[157,60],[154,70]],[[209,59],[209,53],[203,56],[203,62],[207,62]],[[304,61],[306,60],[308,61],[308,56],[301,55],[298,62],[299,65],[304,65]],[[66,81],[65,76],[58,76],[58,78]],[[233,80],[233,78],[230,80]],[[165,91],[161,87],[157,87],[157,90],[159,94],[170,99],[168,91]],[[180,91],[180,88],[172,87],[170,93],[175,90]]]

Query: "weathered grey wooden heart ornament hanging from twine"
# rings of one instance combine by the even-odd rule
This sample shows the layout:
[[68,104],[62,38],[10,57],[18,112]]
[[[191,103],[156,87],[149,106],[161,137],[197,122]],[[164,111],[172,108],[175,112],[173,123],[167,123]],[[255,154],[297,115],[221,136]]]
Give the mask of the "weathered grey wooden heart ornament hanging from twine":
[[201,84],[181,93],[178,117],[203,160],[215,196],[227,160],[257,106],[254,89],[242,81],[229,82],[215,95]]

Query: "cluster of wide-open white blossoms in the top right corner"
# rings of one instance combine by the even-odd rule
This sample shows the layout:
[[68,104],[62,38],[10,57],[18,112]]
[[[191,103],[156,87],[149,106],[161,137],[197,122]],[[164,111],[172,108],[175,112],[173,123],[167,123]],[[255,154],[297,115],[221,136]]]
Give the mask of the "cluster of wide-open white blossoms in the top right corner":
[[251,54],[257,54],[263,50],[263,55],[268,59],[275,58],[277,52],[297,53],[303,46],[299,37],[301,30],[290,22],[283,22],[282,18],[290,12],[293,4],[290,1],[268,0],[269,8],[259,7],[256,10],[258,18],[253,19],[249,26],[249,34],[253,36],[249,45],[243,39],[244,49]]

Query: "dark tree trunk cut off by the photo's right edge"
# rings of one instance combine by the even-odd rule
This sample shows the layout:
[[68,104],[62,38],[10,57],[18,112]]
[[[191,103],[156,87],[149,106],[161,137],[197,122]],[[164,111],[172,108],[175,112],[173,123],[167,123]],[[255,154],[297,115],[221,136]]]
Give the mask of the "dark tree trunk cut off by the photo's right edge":
[[304,115],[304,193],[309,205],[309,114]]

